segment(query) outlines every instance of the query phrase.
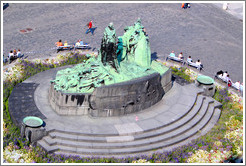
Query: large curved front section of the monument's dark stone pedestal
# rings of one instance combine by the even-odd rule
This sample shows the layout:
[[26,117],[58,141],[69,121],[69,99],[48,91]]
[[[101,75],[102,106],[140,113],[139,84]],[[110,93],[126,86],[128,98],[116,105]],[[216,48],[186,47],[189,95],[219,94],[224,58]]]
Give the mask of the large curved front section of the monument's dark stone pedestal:
[[90,97],[92,116],[117,116],[148,108],[162,99],[160,74],[97,88]]

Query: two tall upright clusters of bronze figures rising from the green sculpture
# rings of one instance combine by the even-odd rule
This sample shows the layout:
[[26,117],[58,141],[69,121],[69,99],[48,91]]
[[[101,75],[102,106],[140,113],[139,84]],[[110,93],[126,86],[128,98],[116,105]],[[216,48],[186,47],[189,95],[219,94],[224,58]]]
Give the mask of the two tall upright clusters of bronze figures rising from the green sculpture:
[[111,65],[116,71],[124,60],[143,67],[150,66],[149,38],[141,19],[138,19],[134,26],[125,27],[124,31],[124,35],[117,40],[113,23],[105,28],[98,56],[102,63]]

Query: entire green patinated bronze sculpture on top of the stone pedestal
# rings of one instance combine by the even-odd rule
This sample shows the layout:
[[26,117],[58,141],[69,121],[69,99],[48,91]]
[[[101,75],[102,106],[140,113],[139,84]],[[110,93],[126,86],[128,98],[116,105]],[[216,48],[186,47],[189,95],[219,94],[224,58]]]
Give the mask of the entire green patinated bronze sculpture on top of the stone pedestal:
[[60,70],[54,88],[64,93],[92,93],[96,87],[129,81],[155,72],[164,74],[168,68],[151,62],[148,36],[138,19],[117,37],[113,23],[105,28],[98,57],[90,56],[84,63]]

